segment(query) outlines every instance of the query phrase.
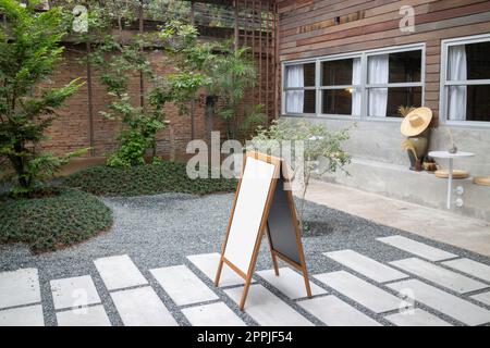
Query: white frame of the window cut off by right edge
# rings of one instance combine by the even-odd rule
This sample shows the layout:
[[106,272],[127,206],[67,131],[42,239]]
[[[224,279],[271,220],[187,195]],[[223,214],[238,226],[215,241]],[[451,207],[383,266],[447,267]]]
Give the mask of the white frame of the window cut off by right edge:
[[448,52],[450,47],[460,45],[471,45],[490,41],[490,34],[471,35],[441,40],[441,71],[439,86],[439,121],[443,125],[458,126],[465,128],[490,128],[490,122],[487,121],[452,121],[448,117],[448,94],[450,86],[481,86],[490,85],[490,79],[466,79],[448,80]]

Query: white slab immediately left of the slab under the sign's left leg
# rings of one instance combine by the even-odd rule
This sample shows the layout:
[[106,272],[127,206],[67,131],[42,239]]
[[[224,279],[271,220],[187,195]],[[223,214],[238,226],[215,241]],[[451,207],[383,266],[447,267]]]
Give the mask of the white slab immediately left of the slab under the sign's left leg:
[[193,304],[219,299],[185,265],[150,270],[151,274],[176,306]]

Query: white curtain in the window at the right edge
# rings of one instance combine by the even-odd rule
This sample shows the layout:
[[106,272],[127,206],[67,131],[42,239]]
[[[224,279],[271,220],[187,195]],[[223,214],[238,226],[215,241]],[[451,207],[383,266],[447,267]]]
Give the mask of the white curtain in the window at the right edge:
[[[448,79],[465,80],[467,78],[466,69],[466,47],[465,45],[452,46],[448,52]],[[449,87],[448,115],[451,121],[466,120],[466,86]]]

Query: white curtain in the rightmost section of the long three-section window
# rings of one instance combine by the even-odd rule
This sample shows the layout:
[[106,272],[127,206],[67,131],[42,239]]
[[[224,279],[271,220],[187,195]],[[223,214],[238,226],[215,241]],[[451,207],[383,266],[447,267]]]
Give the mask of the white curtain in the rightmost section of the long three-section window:
[[[388,84],[388,54],[372,55],[368,59],[369,84]],[[388,88],[369,89],[369,116],[385,117],[388,105]]]

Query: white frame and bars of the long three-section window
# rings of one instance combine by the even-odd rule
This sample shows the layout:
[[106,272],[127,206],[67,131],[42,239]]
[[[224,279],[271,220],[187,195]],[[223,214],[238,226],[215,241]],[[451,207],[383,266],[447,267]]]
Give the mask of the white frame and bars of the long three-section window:
[[[421,51],[421,66],[420,66],[420,82],[419,83],[389,83],[389,84],[367,84],[367,60],[371,55],[377,54],[389,54],[389,53],[397,53],[397,52],[407,52],[407,51]],[[360,58],[362,65],[362,83],[360,86],[360,95],[362,95],[362,105],[360,105],[360,115],[342,115],[342,114],[324,114],[322,113],[322,91],[324,89],[339,89],[339,87],[353,88],[354,85],[348,86],[321,86],[321,63],[327,61],[335,61],[335,60],[345,60],[345,59],[355,59]],[[306,63],[316,63],[315,69],[315,87],[309,87],[310,89],[316,90],[316,113],[286,113],[285,112],[285,90],[291,90],[293,88],[285,88],[285,69],[291,65],[297,64],[306,64]],[[323,55],[317,58],[309,59],[301,59],[293,61],[283,61],[281,62],[281,115],[283,116],[293,116],[293,117],[319,117],[319,119],[333,119],[333,120],[344,120],[344,121],[369,121],[369,122],[402,122],[403,117],[377,117],[377,116],[368,116],[368,88],[380,87],[380,88],[390,88],[390,87],[420,87],[421,88],[421,104],[425,104],[426,97],[426,44],[417,42],[411,45],[403,46],[392,46],[366,51],[357,51],[350,53],[341,53],[341,54],[331,54]],[[357,86],[357,85],[356,85]],[[333,88],[332,88],[333,87]],[[304,89],[304,88],[296,88]]]

